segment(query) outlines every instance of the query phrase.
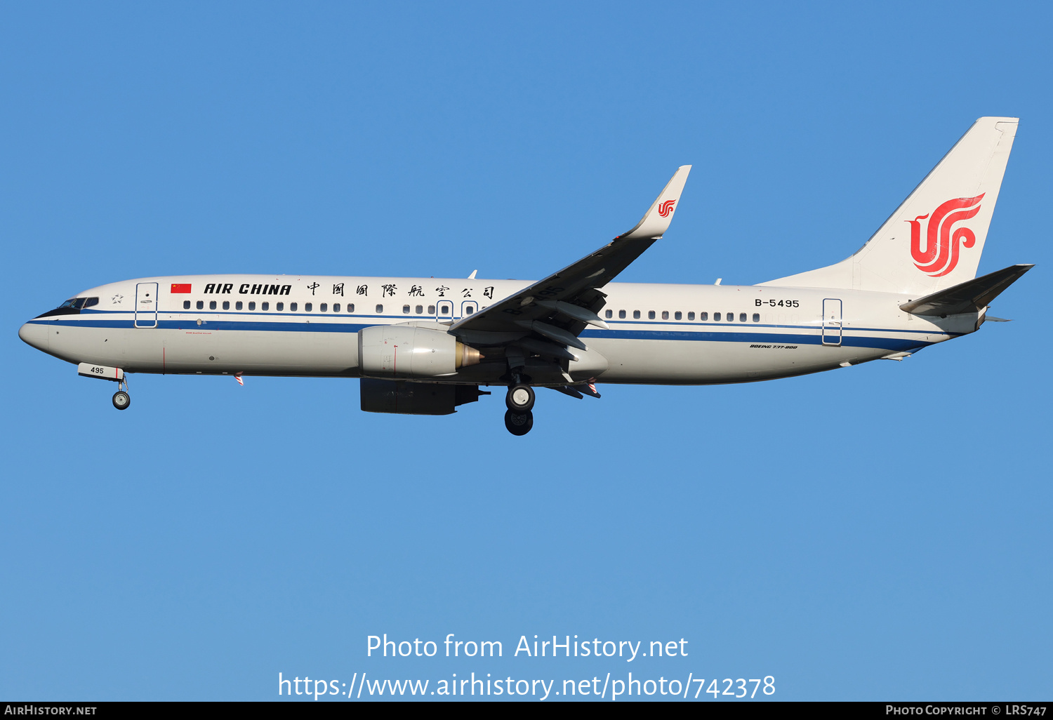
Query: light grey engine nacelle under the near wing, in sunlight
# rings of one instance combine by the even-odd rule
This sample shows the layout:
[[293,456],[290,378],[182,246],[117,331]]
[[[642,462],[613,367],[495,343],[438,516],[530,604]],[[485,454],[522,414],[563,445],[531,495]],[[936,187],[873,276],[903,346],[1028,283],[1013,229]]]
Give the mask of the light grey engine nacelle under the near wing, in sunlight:
[[363,377],[437,378],[478,364],[479,351],[445,328],[376,325],[358,332],[358,366]]

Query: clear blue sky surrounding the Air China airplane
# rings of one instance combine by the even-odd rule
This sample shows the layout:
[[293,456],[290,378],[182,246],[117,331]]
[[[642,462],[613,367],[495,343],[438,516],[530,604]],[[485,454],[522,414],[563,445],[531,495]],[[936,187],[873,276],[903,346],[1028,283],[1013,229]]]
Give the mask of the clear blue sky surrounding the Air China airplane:
[[[776,699],[1049,697],[1050,16],[4,5],[0,696],[633,671],[772,676]],[[118,413],[17,337],[144,276],[536,279],[684,163],[672,229],[620,279],[761,282],[856,249],[982,115],[1021,123],[980,272],[1038,266],[992,308],[1014,322],[902,363],[541,392],[514,438],[499,395],[366,415],[335,379],[135,376]],[[383,633],[505,657],[367,658]],[[535,634],[689,656],[509,657]]]

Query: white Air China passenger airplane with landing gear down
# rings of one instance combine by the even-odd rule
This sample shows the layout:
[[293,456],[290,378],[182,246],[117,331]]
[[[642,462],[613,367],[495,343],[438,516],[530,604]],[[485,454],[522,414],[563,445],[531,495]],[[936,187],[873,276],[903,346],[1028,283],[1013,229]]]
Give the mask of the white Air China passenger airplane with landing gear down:
[[360,379],[370,413],[449,415],[506,387],[504,424],[533,427],[536,387],[753,382],[902,360],[969,335],[1033,265],[976,277],[1017,118],[979,118],[859,251],[756,285],[621,283],[661,239],[683,165],[643,218],[536,282],[306,275],[154,277],[78,293],[19,337],[79,375]]

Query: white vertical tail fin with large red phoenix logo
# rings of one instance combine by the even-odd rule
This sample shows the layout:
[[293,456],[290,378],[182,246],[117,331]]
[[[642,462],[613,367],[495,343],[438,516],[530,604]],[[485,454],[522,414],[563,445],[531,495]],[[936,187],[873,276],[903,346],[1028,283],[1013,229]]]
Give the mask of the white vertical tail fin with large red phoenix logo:
[[930,294],[976,277],[1017,118],[980,118],[867,244],[835,265],[760,283]]

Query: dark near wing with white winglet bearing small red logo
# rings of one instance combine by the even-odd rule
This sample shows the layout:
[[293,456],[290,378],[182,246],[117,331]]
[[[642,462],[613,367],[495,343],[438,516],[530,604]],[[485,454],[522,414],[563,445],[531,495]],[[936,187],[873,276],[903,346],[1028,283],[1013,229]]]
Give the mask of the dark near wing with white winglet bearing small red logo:
[[450,332],[470,344],[511,343],[529,353],[573,359],[567,346],[585,349],[577,337],[585,325],[607,327],[597,315],[607,296],[598,288],[611,282],[669,229],[690,172],[691,165],[679,167],[643,218],[628,233],[544,280],[460,320]]

